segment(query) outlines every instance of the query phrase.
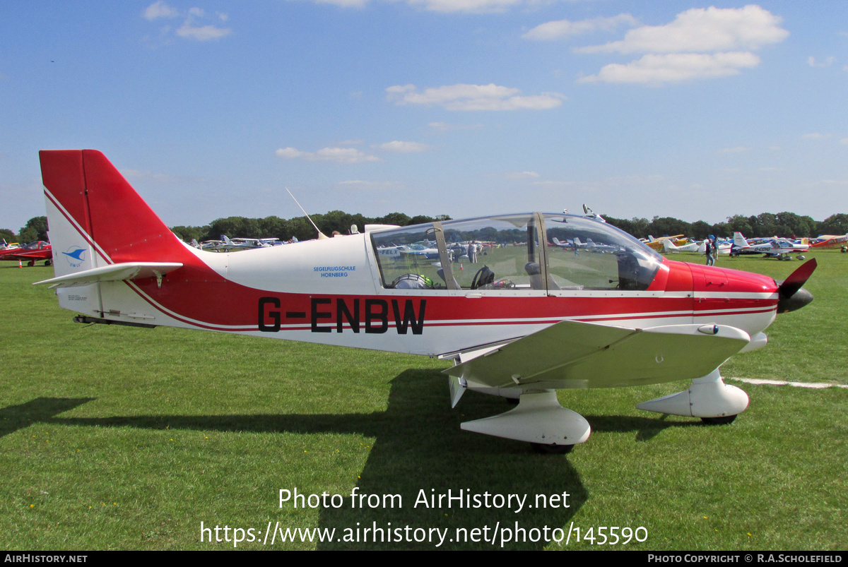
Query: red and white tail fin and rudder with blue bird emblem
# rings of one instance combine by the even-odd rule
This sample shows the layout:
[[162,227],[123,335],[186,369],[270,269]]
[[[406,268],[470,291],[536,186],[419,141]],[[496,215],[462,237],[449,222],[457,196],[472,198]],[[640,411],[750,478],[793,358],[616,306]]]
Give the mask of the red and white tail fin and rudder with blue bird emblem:
[[[114,264],[156,263],[195,264],[194,270],[203,270],[204,279],[208,278],[209,270],[159,220],[103,153],[50,150],[40,152],[39,157],[56,277],[109,269]],[[147,287],[153,293],[165,273],[159,270],[159,281],[155,277],[149,277],[146,283],[136,281],[133,289]],[[120,319],[126,318],[120,314],[140,309],[137,293],[120,281],[59,285],[56,294],[64,309],[88,316]]]

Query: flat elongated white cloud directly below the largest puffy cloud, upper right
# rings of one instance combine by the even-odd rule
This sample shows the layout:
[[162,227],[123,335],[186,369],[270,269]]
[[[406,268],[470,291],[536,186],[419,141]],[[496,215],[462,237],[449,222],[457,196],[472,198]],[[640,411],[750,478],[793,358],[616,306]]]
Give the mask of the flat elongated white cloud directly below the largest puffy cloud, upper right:
[[667,53],[648,54],[628,64],[605,65],[597,75],[577,80],[581,83],[641,83],[661,85],[738,75],[739,69],[756,67],[754,53]]

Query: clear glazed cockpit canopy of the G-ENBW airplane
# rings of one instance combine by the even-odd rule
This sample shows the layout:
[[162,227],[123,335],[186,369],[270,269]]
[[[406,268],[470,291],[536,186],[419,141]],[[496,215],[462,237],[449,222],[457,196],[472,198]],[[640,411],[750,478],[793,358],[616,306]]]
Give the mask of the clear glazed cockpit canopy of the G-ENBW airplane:
[[[371,232],[387,289],[645,290],[662,257],[600,220],[507,214]],[[417,277],[416,277],[417,276]]]

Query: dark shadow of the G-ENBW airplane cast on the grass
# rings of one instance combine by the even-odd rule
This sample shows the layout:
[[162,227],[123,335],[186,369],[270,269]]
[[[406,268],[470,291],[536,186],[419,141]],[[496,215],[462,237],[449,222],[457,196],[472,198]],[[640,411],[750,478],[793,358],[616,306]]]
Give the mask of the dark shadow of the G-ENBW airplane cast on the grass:
[[[321,509],[319,527],[335,528],[337,538],[348,535],[353,541],[323,542],[319,548],[432,549],[433,539],[438,542],[440,536],[431,532],[431,528],[447,533],[441,548],[491,549],[503,545],[507,549],[539,549],[555,546],[550,540],[564,534],[555,534],[552,530],[567,529],[574,514],[589,498],[589,491],[568,456],[537,455],[530,452],[526,443],[460,431],[460,421],[496,414],[508,407],[500,398],[476,394],[466,396],[460,410],[451,412],[446,407],[444,388],[437,387],[442,381],[444,375],[433,370],[404,370],[391,381],[388,409],[371,414],[57,417],[95,398],[40,397],[0,409],[0,436],[36,423],[370,436],[376,441],[360,473],[356,490],[361,495],[380,498],[399,495],[402,505],[381,505],[372,509],[367,506],[368,500],[363,500],[361,508],[354,508],[351,498],[346,496],[341,508]],[[640,441],[656,436],[667,427],[687,425],[629,416],[594,416],[589,420],[596,432],[636,431]],[[421,431],[427,431],[427,435],[421,435]],[[462,507],[456,499],[448,506],[448,491],[453,497],[463,497]],[[562,505],[564,492],[568,494],[565,498],[567,508]],[[432,506],[431,498],[438,498],[438,495],[444,495],[445,500],[441,505],[437,500]],[[501,503],[498,498],[509,498],[509,495],[518,498],[526,495],[521,511],[516,512],[519,506],[515,499],[511,503],[508,500]],[[561,498],[556,506],[540,505],[544,499],[555,495]],[[427,505],[423,503],[425,498]],[[543,532],[545,526],[549,528],[547,539]],[[368,542],[363,542],[366,528],[370,530]],[[377,531],[371,531],[375,528]],[[460,539],[465,536],[466,541],[451,541],[457,536],[458,528]],[[477,532],[472,533],[474,529]],[[495,534],[502,534],[503,539],[509,537],[510,541],[502,542],[501,536],[494,537]],[[423,542],[405,541],[408,537],[420,539],[426,535],[430,537]],[[477,542],[472,541],[472,536]],[[374,542],[375,537],[377,542]],[[480,541],[483,537],[488,542]],[[404,541],[396,541],[401,538]]]

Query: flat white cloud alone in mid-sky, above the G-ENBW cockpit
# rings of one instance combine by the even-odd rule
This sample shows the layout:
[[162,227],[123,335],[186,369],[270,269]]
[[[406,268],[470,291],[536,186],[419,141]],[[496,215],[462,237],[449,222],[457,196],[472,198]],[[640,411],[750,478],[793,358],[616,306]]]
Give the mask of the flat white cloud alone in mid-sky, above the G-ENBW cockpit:
[[386,98],[396,104],[437,104],[448,110],[545,110],[556,108],[566,98],[558,92],[520,96],[520,90],[507,86],[447,85],[419,92],[415,85],[396,85],[386,89]]

